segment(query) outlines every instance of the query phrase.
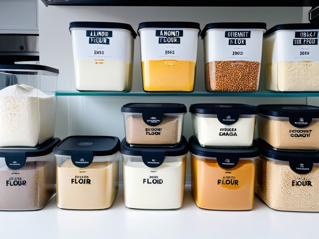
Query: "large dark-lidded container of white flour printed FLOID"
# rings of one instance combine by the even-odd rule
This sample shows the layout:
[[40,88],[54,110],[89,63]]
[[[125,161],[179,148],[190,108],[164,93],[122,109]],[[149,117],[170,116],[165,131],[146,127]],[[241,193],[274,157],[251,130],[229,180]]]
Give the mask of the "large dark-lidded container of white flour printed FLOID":
[[121,142],[125,206],[179,209],[185,187],[187,141],[176,147],[131,147]]

